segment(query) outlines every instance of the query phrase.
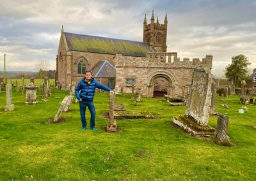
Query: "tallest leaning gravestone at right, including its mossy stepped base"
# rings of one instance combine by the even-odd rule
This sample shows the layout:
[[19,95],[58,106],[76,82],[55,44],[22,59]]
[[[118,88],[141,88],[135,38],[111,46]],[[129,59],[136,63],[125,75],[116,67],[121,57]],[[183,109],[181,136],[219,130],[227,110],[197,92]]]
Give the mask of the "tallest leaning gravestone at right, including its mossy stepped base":
[[211,69],[196,68],[189,90],[186,113],[178,119],[173,119],[174,124],[193,136],[214,134],[215,129],[207,125],[212,98],[211,83]]

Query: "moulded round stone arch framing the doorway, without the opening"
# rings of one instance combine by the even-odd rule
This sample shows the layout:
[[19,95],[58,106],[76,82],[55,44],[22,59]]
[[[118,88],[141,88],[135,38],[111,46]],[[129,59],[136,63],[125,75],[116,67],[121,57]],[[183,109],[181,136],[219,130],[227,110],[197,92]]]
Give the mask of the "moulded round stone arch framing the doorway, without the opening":
[[167,71],[156,71],[148,76],[147,79],[147,98],[152,98],[154,96],[154,81],[156,78],[164,78],[168,82],[167,94],[170,96],[175,95],[175,80],[173,76]]

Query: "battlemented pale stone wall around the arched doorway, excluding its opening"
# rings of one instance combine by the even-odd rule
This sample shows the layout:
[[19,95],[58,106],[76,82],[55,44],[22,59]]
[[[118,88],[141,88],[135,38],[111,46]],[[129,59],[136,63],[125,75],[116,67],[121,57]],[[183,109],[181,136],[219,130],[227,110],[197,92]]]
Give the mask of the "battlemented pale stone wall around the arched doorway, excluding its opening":
[[[166,56],[172,55],[173,62],[166,62]],[[176,55],[176,56],[175,56]],[[124,93],[131,93],[132,87],[127,78],[134,78],[136,88],[141,88],[152,97],[154,80],[164,78],[168,82],[167,94],[170,96],[186,96],[192,82],[194,69],[197,66],[212,68],[212,55],[206,55],[202,61],[185,58],[179,61],[176,53],[150,53],[146,57],[123,57],[116,55],[116,86],[122,86]]]

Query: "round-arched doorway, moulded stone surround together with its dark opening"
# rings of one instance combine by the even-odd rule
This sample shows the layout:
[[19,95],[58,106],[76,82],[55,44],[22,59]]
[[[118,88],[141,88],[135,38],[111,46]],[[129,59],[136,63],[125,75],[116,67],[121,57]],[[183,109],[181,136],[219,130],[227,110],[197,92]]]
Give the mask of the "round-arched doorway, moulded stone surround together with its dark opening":
[[156,71],[148,76],[147,79],[147,97],[154,97],[154,92],[157,90],[163,94],[167,93],[169,96],[175,95],[175,80],[173,76],[166,71]]

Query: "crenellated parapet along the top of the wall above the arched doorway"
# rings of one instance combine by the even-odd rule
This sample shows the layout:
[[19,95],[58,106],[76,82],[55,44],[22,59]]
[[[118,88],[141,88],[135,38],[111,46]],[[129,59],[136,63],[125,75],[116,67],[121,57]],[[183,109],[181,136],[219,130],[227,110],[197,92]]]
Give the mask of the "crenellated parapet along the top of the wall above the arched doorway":
[[126,68],[212,68],[212,55],[206,55],[202,61],[199,58],[184,58],[180,61],[176,52],[147,53],[147,57],[124,57],[120,54],[115,56],[116,67]]

